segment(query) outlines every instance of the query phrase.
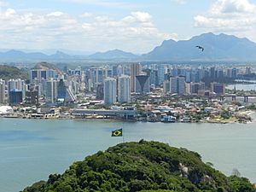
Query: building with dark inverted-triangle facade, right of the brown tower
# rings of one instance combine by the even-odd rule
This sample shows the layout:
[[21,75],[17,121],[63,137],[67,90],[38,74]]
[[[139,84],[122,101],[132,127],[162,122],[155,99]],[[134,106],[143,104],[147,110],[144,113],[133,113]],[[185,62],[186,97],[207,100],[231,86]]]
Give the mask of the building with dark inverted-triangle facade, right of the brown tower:
[[136,76],[136,93],[147,94],[150,92],[149,76],[138,75]]

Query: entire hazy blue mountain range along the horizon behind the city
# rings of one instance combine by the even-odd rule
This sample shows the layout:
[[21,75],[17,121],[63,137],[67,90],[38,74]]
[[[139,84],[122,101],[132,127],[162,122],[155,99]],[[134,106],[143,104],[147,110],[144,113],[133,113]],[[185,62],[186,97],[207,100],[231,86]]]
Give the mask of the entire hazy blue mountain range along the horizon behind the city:
[[[196,48],[198,45],[204,51]],[[189,40],[166,40],[143,55],[119,49],[92,55],[68,55],[62,51],[46,55],[12,49],[0,52],[0,61],[256,61],[256,44],[247,38],[209,32]]]

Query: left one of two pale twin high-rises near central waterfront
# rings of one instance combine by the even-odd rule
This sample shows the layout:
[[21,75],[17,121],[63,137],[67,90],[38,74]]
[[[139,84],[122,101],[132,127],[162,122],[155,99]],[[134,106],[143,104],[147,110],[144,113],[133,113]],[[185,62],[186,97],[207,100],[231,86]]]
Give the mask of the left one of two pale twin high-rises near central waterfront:
[[107,78],[104,79],[104,103],[107,105],[113,104],[116,102],[116,79]]

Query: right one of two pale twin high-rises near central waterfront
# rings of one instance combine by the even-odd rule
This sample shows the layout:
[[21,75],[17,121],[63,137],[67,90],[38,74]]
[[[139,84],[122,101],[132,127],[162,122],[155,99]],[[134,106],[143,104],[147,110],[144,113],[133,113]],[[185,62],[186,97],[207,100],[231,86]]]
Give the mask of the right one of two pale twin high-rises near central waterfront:
[[131,102],[131,79],[127,75],[119,77],[119,102]]

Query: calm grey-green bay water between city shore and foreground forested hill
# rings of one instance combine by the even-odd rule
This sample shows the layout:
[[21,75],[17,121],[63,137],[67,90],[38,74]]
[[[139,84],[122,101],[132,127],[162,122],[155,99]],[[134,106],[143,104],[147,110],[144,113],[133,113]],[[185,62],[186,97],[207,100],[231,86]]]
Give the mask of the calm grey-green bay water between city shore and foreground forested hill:
[[[256,182],[256,122],[247,125],[124,123],[125,140],[155,140],[200,153],[229,175]],[[0,119],[0,192],[15,192],[75,160],[122,142],[115,121]]]

